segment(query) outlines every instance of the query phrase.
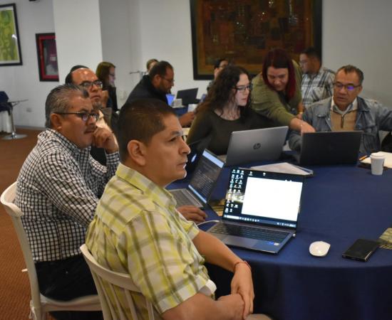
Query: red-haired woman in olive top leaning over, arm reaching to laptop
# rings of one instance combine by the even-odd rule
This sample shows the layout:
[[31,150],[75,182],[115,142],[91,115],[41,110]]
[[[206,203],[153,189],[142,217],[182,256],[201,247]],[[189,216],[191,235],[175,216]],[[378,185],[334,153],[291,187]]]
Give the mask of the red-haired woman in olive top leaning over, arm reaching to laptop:
[[[285,50],[274,49],[264,58],[262,73],[252,80],[252,108],[259,114],[299,132],[314,132],[303,122],[301,70]],[[298,117],[296,117],[298,115]]]

